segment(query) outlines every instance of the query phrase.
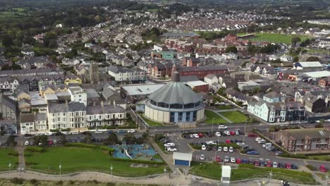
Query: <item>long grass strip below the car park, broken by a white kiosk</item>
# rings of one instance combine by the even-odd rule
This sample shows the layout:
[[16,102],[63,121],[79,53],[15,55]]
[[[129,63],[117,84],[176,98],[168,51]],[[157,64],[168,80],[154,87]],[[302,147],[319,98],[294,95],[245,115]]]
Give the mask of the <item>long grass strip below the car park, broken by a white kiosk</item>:
[[[231,170],[231,180],[243,180],[249,178],[267,178],[269,173],[272,173],[272,178],[276,180],[289,180],[291,182],[300,184],[314,185],[315,180],[310,173],[304,173],[300,171],[291,171],[280,168],[238,168]],[[192,163],[190,173],[200,175],[205,178],[211,178],[214,180],[221,179],[221,166],[212,163]]]

